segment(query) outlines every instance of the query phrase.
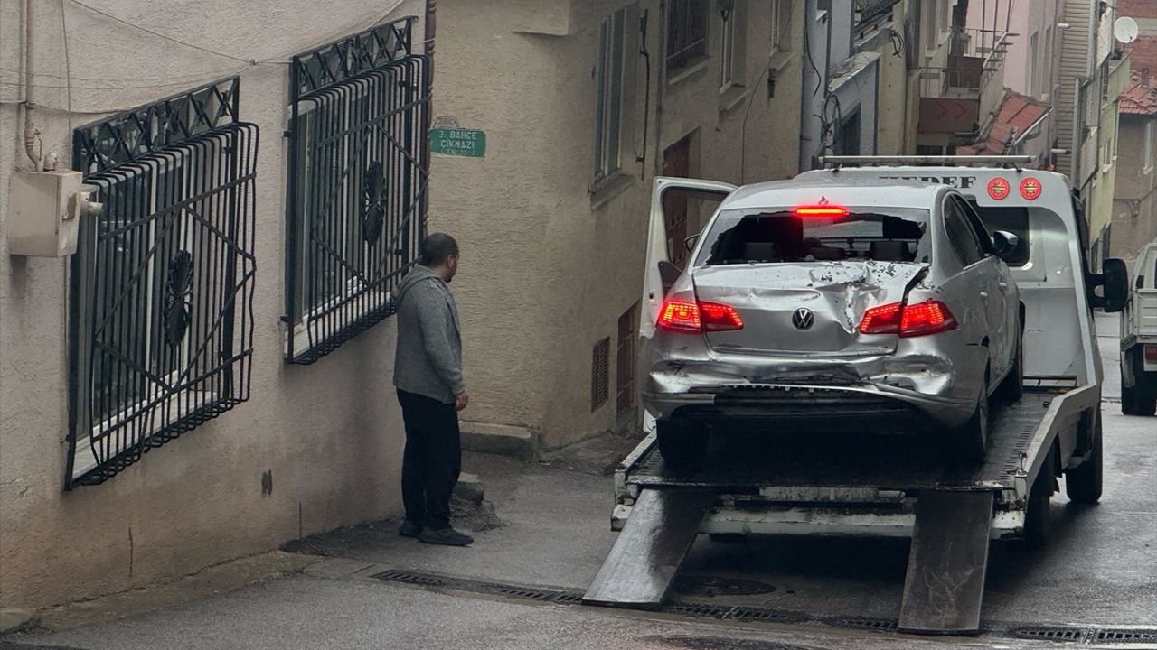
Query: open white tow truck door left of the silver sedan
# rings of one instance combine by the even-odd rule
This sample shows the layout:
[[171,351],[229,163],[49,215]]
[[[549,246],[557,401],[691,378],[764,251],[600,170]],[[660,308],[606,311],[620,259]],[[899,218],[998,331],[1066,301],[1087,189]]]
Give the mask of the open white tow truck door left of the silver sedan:
[[[679,278],[681,269],[671,264],[670,245],[668,239],[668,219],[664,205],[670,206],[673,194],[680,193],[686,197],[706,201],[722,201],[736,186],[717,180],[699,180],[695,178],[668,178],[656,177],[651,185],[650,224],[647,229],[647,266],[643,272],[643,298],[642,313],[639,318],[639,372],[636,377],[646,381],[647,374],[642,363],[650,356],[651,341],[655,338],[655,323],[658,322],[659,311],[663,309],[663,298],[671,285]],[[666,200],[664,200],[666,199]],[[708,223],[709,226],[709,223]],[[681,245],[681,243],[678,243]],[[688,260],[687,264],[692,264]],[[651,430],[654,422],[644,418],[643,430]]]

